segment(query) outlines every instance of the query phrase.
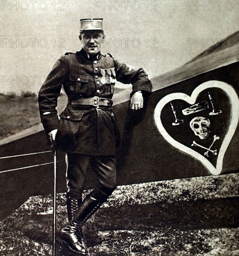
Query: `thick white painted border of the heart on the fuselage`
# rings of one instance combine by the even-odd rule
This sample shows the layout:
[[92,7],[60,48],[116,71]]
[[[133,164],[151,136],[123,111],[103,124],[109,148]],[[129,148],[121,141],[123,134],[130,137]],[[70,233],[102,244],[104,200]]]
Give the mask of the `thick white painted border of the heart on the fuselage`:
[[[213,85],[214,83],[217,83],[218,85]],[[199,154],[192,148],[188,148],[185,145],[179,143],[178,141],[175,141],[167,132],[166,129],[163,127],[163,124],[161,122],[161,111],[163,107],[170,101],[173,100],[183,100],[188,102],[189,104],[193,105],[195,104],[197,97],[199,93],[202,91],[209,89],[209,88],[220,88],[226,92],[228,95],[229,99],[231,100],[231,124],[230,127],[226,133],[226,136],[224,138],[224,141],[222,142],[221,148],[220,148],[220,157],[218,156],[217,159],[217,165],[216,168],[212,165],[211,162],[209,162],[203,155]],[[223,159],[224,155],[226,153],[226,149],[228,148],[232,137],[236,131],[238,121],[239,121],[239,99],[236,91],[232,88],[231,85],[222,82],[222,81],[207,81],[204,82],[203,84],[200,84],[198,87],[196,87],[193,90],[193,93],[191,96],[184,94],[184,93],[173,93],[173,94],[168,94],[164,98],[162,98],[159,103],[157,104],[155,110],[154,110],[154,120],[156,123],[157,128],[159,129],[159,132],[163,137],[168,141],[173,147],[176,147],[177,149],[183,151],[187,155],[190,155],[188,152],[193,152],[195,159],[199,160],[211,173],[212,175],[219,175],[222,171],[222,165],[223,165]],[[201,158],[198,158],[196,156],[200,156]]]

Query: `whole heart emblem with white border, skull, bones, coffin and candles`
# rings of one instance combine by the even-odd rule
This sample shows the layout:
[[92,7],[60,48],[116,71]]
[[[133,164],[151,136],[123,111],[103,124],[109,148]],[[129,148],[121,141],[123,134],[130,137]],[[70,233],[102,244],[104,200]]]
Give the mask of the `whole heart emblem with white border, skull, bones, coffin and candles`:
[[157,104],[154,119],[166,141],[219,175],[238,125],[239,99],[227,83],[207,81],[191,96],[166,95]]

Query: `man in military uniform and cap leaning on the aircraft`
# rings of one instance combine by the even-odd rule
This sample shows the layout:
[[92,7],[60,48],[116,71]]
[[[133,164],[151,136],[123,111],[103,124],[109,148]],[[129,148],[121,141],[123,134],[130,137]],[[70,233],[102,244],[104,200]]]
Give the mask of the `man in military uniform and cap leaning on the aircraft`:
[[[51,141],[66,152],[66,208],[68,223],[58,240],[74,252],[86,255],[82,225],[100,208],[116,187],[115,154],[119,134],[112,112],[115,81],[132,84],[131,108],[143,108],[143,94],[151,82],[142,68],[119,63],[110,54],[101,54],[105,39],[103,19],[80,20],[80,52],[61,56],[39,92],[41,122]],[[57,115],[61,87],[68,104]],[[82,202],[86,170],[97,174],[95,189]]]

